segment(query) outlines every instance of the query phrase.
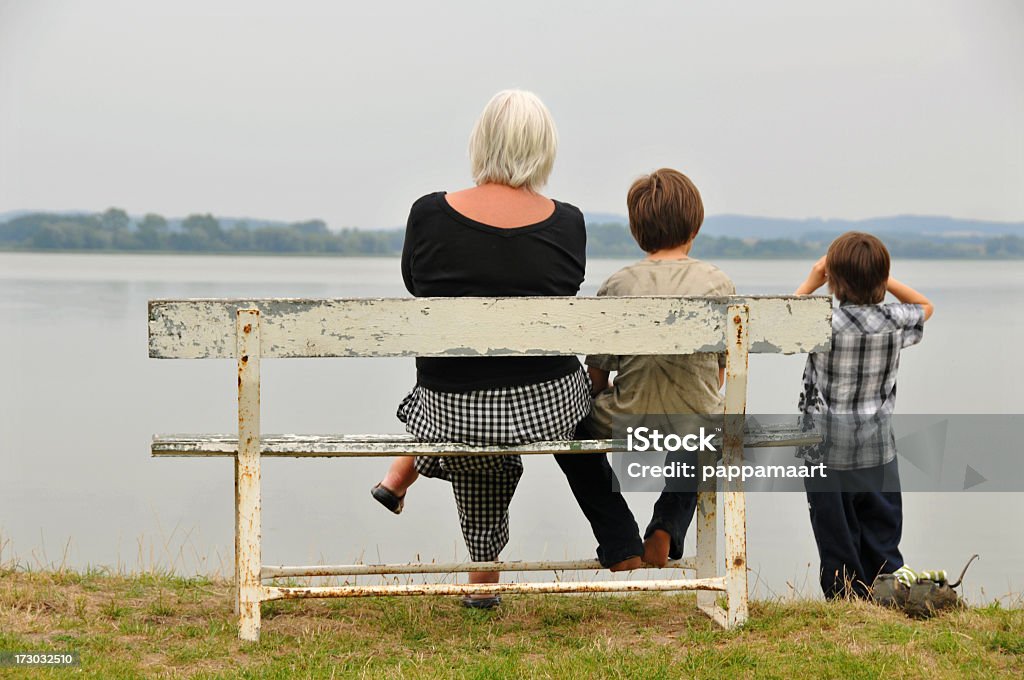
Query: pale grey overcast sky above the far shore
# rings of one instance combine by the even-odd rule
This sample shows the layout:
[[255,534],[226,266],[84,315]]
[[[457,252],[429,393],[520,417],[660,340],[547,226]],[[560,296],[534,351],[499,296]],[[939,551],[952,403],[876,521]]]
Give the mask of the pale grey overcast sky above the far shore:
[[671,166],[709,214],[1024,220],[1013,0],[0,0],[0,211],[403,224],[509,87],[584,210]]

